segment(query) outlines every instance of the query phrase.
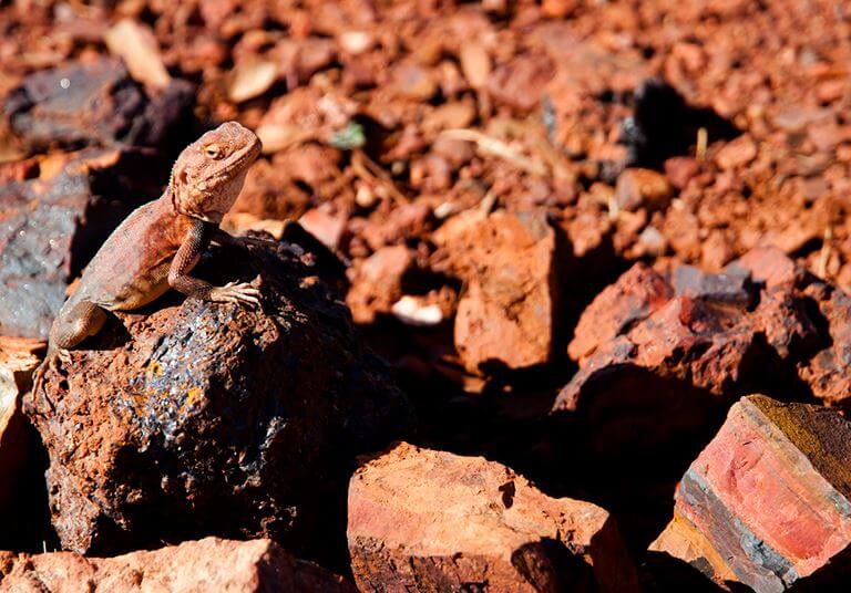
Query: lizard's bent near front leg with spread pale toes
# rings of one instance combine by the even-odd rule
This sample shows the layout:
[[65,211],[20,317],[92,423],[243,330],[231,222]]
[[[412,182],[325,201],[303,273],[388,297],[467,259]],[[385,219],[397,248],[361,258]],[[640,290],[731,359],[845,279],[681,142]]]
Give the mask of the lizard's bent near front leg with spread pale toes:
[[201,253],[209,245],[215,230],[215,225],[202,221],[192,227],[186,240],[172,260],[168,269],[168,285],[186,296],[204,301],[259,306],[260,292],[247,282],[228,282],[224,287],[214,287],[209,282],[189,275]]

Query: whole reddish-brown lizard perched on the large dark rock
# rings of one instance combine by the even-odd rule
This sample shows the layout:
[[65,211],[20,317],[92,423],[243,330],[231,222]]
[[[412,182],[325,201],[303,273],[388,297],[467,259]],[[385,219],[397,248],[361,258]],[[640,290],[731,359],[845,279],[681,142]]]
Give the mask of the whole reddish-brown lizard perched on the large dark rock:
[[219,228],[260,149],[252,131],[226,122],[181,153],[163,195],[131,212],[83,270],[76,291],[51,325],[48,353],[33,376],[33,395],[47,368],[101,331],[107,311],[139,309],[170,288],[205,301],[259,306],[259,291],[247,282],[214,287],[189,272],[211,241],[273,245],[232,237]]

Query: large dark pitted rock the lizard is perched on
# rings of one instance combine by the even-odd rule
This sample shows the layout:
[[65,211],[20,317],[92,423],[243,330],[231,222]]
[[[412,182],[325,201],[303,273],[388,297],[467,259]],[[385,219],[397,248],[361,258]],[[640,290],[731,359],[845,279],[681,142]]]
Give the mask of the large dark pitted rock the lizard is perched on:
[[25,410],[50,454],[63,548],[206,534],[332,545],[320,524],[342,521],[355,455],[399,437],[411,413],[317,261],[289,243],[215,250],[197,274],[253,280],[263,311],[161,299],[47,374]]

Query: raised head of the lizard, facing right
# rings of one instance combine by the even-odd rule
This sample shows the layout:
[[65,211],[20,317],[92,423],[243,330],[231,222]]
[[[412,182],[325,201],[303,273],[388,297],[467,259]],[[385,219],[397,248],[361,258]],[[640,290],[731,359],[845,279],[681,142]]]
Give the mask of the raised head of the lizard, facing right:
[[260,139],[247,127],[226,122],[188,145],[172,169],[174,209],[207,222],[221,222],[243,189]]

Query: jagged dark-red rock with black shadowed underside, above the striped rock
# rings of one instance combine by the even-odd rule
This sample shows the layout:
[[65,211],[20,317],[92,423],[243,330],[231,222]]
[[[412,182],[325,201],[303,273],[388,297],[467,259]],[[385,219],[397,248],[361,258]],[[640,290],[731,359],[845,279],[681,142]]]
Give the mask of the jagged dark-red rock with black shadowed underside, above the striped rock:
[[[594,449],[621,455],[625,447],[640,450],[687,438],[750,386],[793,378],[794,363],[781,352],[788,355],[790,344],[812,340],[816,329],[803,308],[766,304],[751,314],[749,298],[740,299],[728,284],[735,289],[737,282],[700,273],[680,281],[680,292],[694,299],[671,299],[598,344],[556,397],[553,413],[580,413],[591,426]],[[617,314],[622,305],[612,310]],[[776,311],[799,316],[781,316],[782,324],[767,330],[778,322]],[[777,347],[767,343],[767,333]]]

